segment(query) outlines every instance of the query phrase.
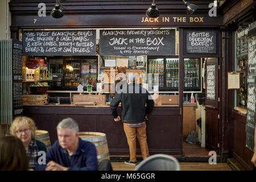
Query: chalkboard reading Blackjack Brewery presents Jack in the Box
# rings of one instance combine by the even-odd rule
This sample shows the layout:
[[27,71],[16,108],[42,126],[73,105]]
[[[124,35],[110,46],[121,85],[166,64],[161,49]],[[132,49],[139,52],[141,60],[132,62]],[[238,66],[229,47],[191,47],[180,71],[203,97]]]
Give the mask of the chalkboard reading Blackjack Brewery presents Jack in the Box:
[[175,30],[100,30],[100,55],[175,55]]

